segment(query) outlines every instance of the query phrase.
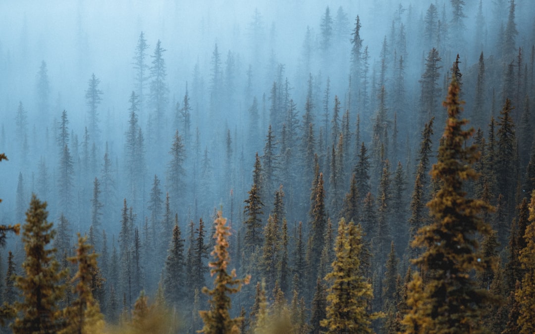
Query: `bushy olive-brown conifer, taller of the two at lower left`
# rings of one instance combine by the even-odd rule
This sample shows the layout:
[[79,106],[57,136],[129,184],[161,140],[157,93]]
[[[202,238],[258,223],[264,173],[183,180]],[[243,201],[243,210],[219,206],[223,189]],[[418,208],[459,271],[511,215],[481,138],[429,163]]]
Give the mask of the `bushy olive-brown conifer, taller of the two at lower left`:
[[22,227],[26,260],[22,263],[24,276],[17,276],[15,284],[22,300],[14,304],[19,311],[13,322],[14,333],[56,333],[65,327],[58,309],[65,272],[59,271],[59,263],[53,258],[55,250],[48,246],[56,233],[52,222],[47,221],[46,208],[47,203],[32,196]]

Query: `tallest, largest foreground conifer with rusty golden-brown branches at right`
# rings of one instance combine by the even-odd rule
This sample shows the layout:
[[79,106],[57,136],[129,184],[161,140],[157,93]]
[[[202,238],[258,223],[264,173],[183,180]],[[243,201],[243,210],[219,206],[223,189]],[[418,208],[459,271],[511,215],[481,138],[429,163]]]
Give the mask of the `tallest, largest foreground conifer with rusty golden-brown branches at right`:
[[425,283],[418,274],[412,278],[408,299],[412,310],[403,320],[408,333],[479,331],[480,317],[490,299],[470,277],[473,270],[483,270],[484,266],[478,261],[476,233],[485,235],[490,227],[479,216],[488,205],[466,198],[463,189],[463,181],[476,177],[471,165],[478,152],[475,146],[465,145],[473,129],[462,129],[468,121],[459,119],[462,107],[458,92],[453,77],[444,102],[448,122],[438,163],[432,169],[433,180],[441,181],[440,189],[427,204],[433,221],[418,231],[413,242],[414,246],[425,247],[413,261],[422,268]]

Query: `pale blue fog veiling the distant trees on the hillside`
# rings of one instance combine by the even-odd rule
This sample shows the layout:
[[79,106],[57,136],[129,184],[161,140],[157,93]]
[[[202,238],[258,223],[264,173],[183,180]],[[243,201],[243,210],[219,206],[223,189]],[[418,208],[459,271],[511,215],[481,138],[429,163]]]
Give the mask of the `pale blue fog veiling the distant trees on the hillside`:
[[[427,25],[431,4],[437,12],[432,25]],[[171,212],[173,216],[178,214],[186,239],[190,221],[196,224],[202,218],[211,227],[218,209],[230,219],[233,232],[241,230],[243,237],[243,222],[247,219],[243,201],[254,182],[255,153],[262,157],[265,168],[265,141],[271,125],[276,143],[273,154],[278,161],[274,172],[263,176],[264,223],[273,209],[273,192],[282,184],[291,243],[295,244],[299,222],[307,223],[311,213],[314,158],[313,154],[311,160],[305,157],[308,126],[303,116],[307,98],[312,105],[312,152],[318,154],[319,171],[324,173],[327,211],[333,221],[338,220],[343,196],[349,191],[361,142],[372,154],[372,169],[380,165],[374,165],[374,161],[389,160],[393,173],[398,161],[401,163],[408,197],[423,123],[429,121],[422,121],[421,116],[426,90],[422,76],[432,48],[437,48],[441,57],[435,82],[437,99],[432,103],[437,110],[433,159],[444,128],[445,116],[438,114],[442,112],[440,102],[457,54],[463,74],[462,98],[467,102],[465,115],[474,118],[471,125],[482,127],[486,133],[490,116],[499,114],[507,97],[513,99],[517,110],[523,110],[524,101],[533,105],[535,6],[532,0],[516,0],[514,4],[518,34],[513,35],[513,49],[507,50],[500,44],[505,45],[500,36],[506,33],[500,25],[502,29],[507,27],[510,3],[506,0],[465,0],[462,25],[454,24],[451,2],[443,0],[2,1],[0,152],[9,160],[0,163],[0,222],[22,223],[30,196],[36,193],[48,202],[51,221],[56,222],[64,214],[71,224],[71,236],[77,231],[88,233],[97,177],[102,208],[97,209],[100,222],[94,228],[98,235],[105,230],[110,248],[112,238],[116,242],[119,239],[124,200],[132,207],[133,225],[142,230],[147,221],[156,238],[160,232],[154,231],[163,215],[166,192],[170,195]],[[332,22],[325,37],[322,21],[327,8]],[[362,25],[359,57],[367,48],[369,58],[367,67],[355,70],[351,39],[357,15]],[[429,33],[428,27],[437,32]],[[141,33],[148,45],[142,50],[142,92],[134,59]],[[432,36],[426,37],[428,34]],[[165,75],[161,91],[156,92],[151,68],[155,66],[152,61],[158,41],[165,50]],[[522,50],[521,60],[518,48]],[[486,65],[484,112],[476,116],[481,52]],[[359,66],[364,66],[366,61],[360,59]],[[507,94],[509,64],[515,65],[515,73],[522,72],[513,79],[515,84],[518,81],[518,87],[523,82],[523,88],[511,88],[514,96]],[[355,73],[357,77],[351,76]],[[88,87],[93,75],[97,83],[97,118],[91,125]],[[381,86],[386,92],[383,104],[378,97]],[[139,104],[132,128],[129,99],[133,92]],[[186,94],[189,125],[180,114],[184,112]],[[335,96],[340,101],[340,114],[333,121]],[[297,123],[292,129],[295,131],[283,139],[283,131],[290,131],[288,121],[292,119],[287,114],[289,99],[295,104],[296,114],[292,117]],[[251,108],[254,100],[256,111]],[[385,131],[378,144],[373,126],[380,117],[381,105],[386,115]],[[59,139],[63,111],[68,119],[67,142]],[[520,112],[514,118],[518,121]],[[333,129],[335,123],[336,129],[341,129],[344,122],[350,135],[343,138],[348,141],[343,149],[347,153],[345,160],[340,160],[345,170],[340,176],[342,184],[333,185],[334,181],[328,181],[333,174],[331,149],[334,152],[338,144],[338,134],[333,135]],[[131,129],[135,130],[135,144],[128,142]],[[180,170],[173,176],[169,152],[177,131],[184,151],[175,166]],[[140,133],[143,141],[137,137]],[[72,157],[72,170],[65,172],[68,180],[62,176],[63,144],[67,144]],[[129,144],[136,148],[129,148]],[[282,152],[283,145],[289,145],[289,151]],[[379,153],[380,150],[384,151]],[[109,170],[104,172],[106,164]],[[377,193],[379,173],[374,173],[370,175],[370,189]],[[162,191],[162,209],[156,216],[150,204],[155,175]],[[106,178],[112,182],[103,188]],[[307,235],[309,229],[305,224]],[[169,244],[171,231],[168,232],[167,239],[158,239],[158,243]],[[405,247],[408,240],[402,242]],[[19,237],[10,236],[7,245],[16,250],[18,263],[22,262]],[[95,245],[99,252],[102,246],[101,242]],[[162,270],[152,265],[146,265],[146,281],[142,284],[150,293],[156,290],[158,274],[148,272]],[[253,278],[257,280],[259,277]]]

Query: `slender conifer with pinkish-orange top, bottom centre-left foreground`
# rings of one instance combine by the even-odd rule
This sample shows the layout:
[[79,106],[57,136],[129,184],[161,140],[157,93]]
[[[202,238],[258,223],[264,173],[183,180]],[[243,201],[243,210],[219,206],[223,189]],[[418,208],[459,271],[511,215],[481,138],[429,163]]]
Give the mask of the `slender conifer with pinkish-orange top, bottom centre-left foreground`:
[[214,279],[214,288],[212,290],[208,290],[206,287],[203,288],[203,293],[210,296],[209,303],[211,308],[210,310],[200,312],[204,322],[202,332],[207,334],[239,333],[243,319],[231,318],[230,294],[239,292],[242,284],[248,284],[250,279],[250,276],[237,279],[235,278],[236,271],[234,269],[231,273],[227,271],[230,261],[228,237],[231,234],[225,224],[226,219],[221,217],[221,212],[218,212],[217,219],[215,220],[216,234],[213,236],[216,239],[216,245],[211,253],[214,261],[210,262],[210,274],[216,276]]

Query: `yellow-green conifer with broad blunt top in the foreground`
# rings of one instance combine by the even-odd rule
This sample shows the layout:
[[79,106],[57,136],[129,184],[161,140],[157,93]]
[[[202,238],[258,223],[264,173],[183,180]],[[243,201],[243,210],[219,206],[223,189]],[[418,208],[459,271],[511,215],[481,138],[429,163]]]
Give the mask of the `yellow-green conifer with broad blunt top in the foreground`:
[[362,228],[342,218],[338,223],[338,237],[334,251],[336,259],[327,289],[326,317],[321,324],[328,333],[372,333],[371,320],[378,314],[368,314],[367,303],[373,297],[371,284],[366,282],[360,268]]

